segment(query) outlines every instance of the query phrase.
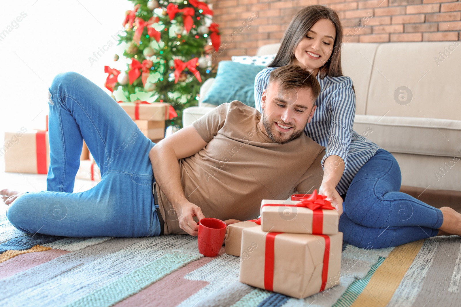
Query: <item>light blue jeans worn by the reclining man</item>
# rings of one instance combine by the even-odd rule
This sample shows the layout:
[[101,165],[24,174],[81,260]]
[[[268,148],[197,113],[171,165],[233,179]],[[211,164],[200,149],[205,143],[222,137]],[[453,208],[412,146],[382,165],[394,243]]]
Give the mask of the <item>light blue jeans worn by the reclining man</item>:
[[[114,99],[83,75],[56,75],[49,92],[47,191],[19,196],[6,212],[8,220],[32,234],[158,236],[148,156],[155,143]],[[83,139],[102,180],[88,191],[72,193]]]

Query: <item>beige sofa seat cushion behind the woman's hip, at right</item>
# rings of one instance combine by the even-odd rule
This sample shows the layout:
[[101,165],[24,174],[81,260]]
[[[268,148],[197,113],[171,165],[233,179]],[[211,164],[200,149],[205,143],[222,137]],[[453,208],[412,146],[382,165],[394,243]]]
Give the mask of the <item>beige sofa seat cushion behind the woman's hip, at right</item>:
[[390,152],[461,156],[461,121],[356,115],[354,130]]

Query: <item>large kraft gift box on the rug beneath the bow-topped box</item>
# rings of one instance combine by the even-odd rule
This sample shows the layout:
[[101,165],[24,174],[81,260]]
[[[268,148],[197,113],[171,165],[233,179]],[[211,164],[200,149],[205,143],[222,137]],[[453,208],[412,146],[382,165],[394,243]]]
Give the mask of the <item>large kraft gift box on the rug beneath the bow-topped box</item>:
[[302,299],[339,284],[342,248],[342,232],[327,236],[245,228],[239,281]]

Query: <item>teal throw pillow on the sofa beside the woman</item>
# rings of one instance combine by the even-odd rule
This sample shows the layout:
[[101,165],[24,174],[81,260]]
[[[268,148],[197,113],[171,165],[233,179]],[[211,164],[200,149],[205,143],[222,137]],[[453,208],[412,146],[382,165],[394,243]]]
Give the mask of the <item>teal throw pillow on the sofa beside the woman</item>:
[[219,105],[239,100],[254,108],[254,78],[265,67],[220,61],[216,78],[202,102]]

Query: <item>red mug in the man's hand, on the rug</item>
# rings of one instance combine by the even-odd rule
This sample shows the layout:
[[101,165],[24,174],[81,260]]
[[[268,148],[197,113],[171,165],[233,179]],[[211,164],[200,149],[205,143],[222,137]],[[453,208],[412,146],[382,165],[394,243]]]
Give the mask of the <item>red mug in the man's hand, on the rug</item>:
[[199,221],[198,244],[200,254],[215,257],[224,242],[226,223],[207,217]]

